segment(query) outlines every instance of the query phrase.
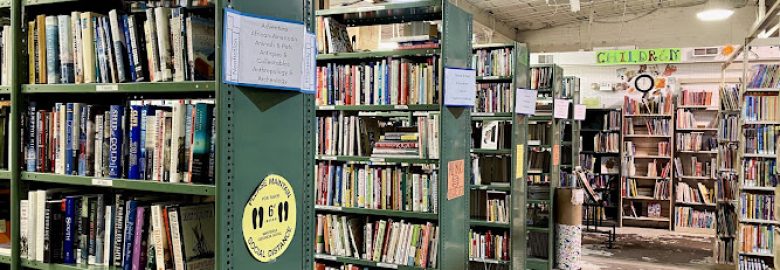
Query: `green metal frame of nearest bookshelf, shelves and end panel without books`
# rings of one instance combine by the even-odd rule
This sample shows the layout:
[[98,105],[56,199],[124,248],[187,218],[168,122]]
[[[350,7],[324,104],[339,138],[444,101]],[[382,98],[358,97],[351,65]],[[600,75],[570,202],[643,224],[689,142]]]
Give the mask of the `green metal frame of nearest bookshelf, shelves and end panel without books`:
[[[3,0],[0,9],[10,9],[12,29],[10,85],[0,87],[0,95],[10,95],[12,101],[10,127],[10,165],[0,171],[0,178],[10,181],[11,186],[11,254],[0,256],[0,264],[10,269],[116,269],[110,266],[68,265],[42,263],[22,258],[20,254],[20,201],[26,197],[28,188],[67,186],[73,188],[127,192],[131,194],[194,195],[213,200],[216,211],[216,269],[308,269],[313,265],[313,254],[309,248],[313,232],[313,187],[308,179],[313,171],[313,129],[314,99],[312,95],[299,92],[282,92],[268,88],[249,88],[228,85],[222,80],[222,30],[226,8],[244,14],[279,18],[303,22],[313,32],[313,9],[310,0],[263,2],[214,0],[215,18],[215,74],[211,81],[194,82],[138,82],[116,84],[26,84],[22,78],[27,73],[26,22],[37,13],[55,10],[50,15],[70,11],[92,11],[87,1],[79,0]],[[103,5],[117,8],[120,5]],[[216,172],[214,185],[164,183],[127,179],[69,176],[53,173],[23,172],[20,116],[28,101],[50,100],[94,100],[108,99],[124,103],[131,98],[214,98],[218,111],[216,146]],[[258,123],[257,125],[237,123]],[[275,130],[275,132],[269,132]],[[273,151],[284,149],[284,151]],[[267,150],[274,152],[267,155]],[[259,184],[268,174],[283,175],[290,182],[297,195],[299,206],[296,237],[289,249],[269,263],[260,263],[249,254],[241,235],[241,213],[243,207]]]

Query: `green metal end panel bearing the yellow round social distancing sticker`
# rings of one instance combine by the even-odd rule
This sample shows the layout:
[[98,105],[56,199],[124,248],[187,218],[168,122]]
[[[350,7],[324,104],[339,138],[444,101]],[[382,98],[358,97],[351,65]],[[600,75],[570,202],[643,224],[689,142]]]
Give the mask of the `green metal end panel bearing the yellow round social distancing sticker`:
[[[310,0],[216,2],[216,51],[226,8],[245,14],[303,22],[312,30]],[[228,85],[216,54],[217,269],[312,269],[314,234],[314,100],[311,95]],[[287,250],[270,262],[250,254],[242,233],[245,204],[267,176],[285,178],[295,194],[297,222]]]

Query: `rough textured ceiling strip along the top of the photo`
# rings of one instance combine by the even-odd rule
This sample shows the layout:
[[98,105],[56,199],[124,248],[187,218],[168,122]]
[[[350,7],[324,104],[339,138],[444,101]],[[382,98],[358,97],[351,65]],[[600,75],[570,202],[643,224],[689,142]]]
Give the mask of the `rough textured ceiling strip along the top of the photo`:
[[[705,0],[580,0],[581,10],[571,12],[569,0],[460,0],[492,13],[497,20],[520,31],[578,21],[631,20],[660,8],[700,5]],[[624,15],[625,14],[625,15]]]

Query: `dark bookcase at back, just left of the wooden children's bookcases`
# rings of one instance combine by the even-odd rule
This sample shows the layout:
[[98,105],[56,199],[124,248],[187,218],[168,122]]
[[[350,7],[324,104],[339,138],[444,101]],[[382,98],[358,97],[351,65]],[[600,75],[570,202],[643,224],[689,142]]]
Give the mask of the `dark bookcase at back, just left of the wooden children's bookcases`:
[[[601,199],[595,216],[603,220],[617,221],[620,214],[621,119],[620,109],[587,109],[580,129],[580,167]],[[589,213],[586,218],[592,216]]]

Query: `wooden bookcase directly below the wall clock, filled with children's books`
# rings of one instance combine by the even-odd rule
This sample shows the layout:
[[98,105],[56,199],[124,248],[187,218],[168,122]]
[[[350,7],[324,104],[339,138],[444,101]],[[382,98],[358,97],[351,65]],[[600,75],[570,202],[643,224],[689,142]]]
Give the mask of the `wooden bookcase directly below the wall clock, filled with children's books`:
[[672,229],[674,100],[624,97],[620,224]]

